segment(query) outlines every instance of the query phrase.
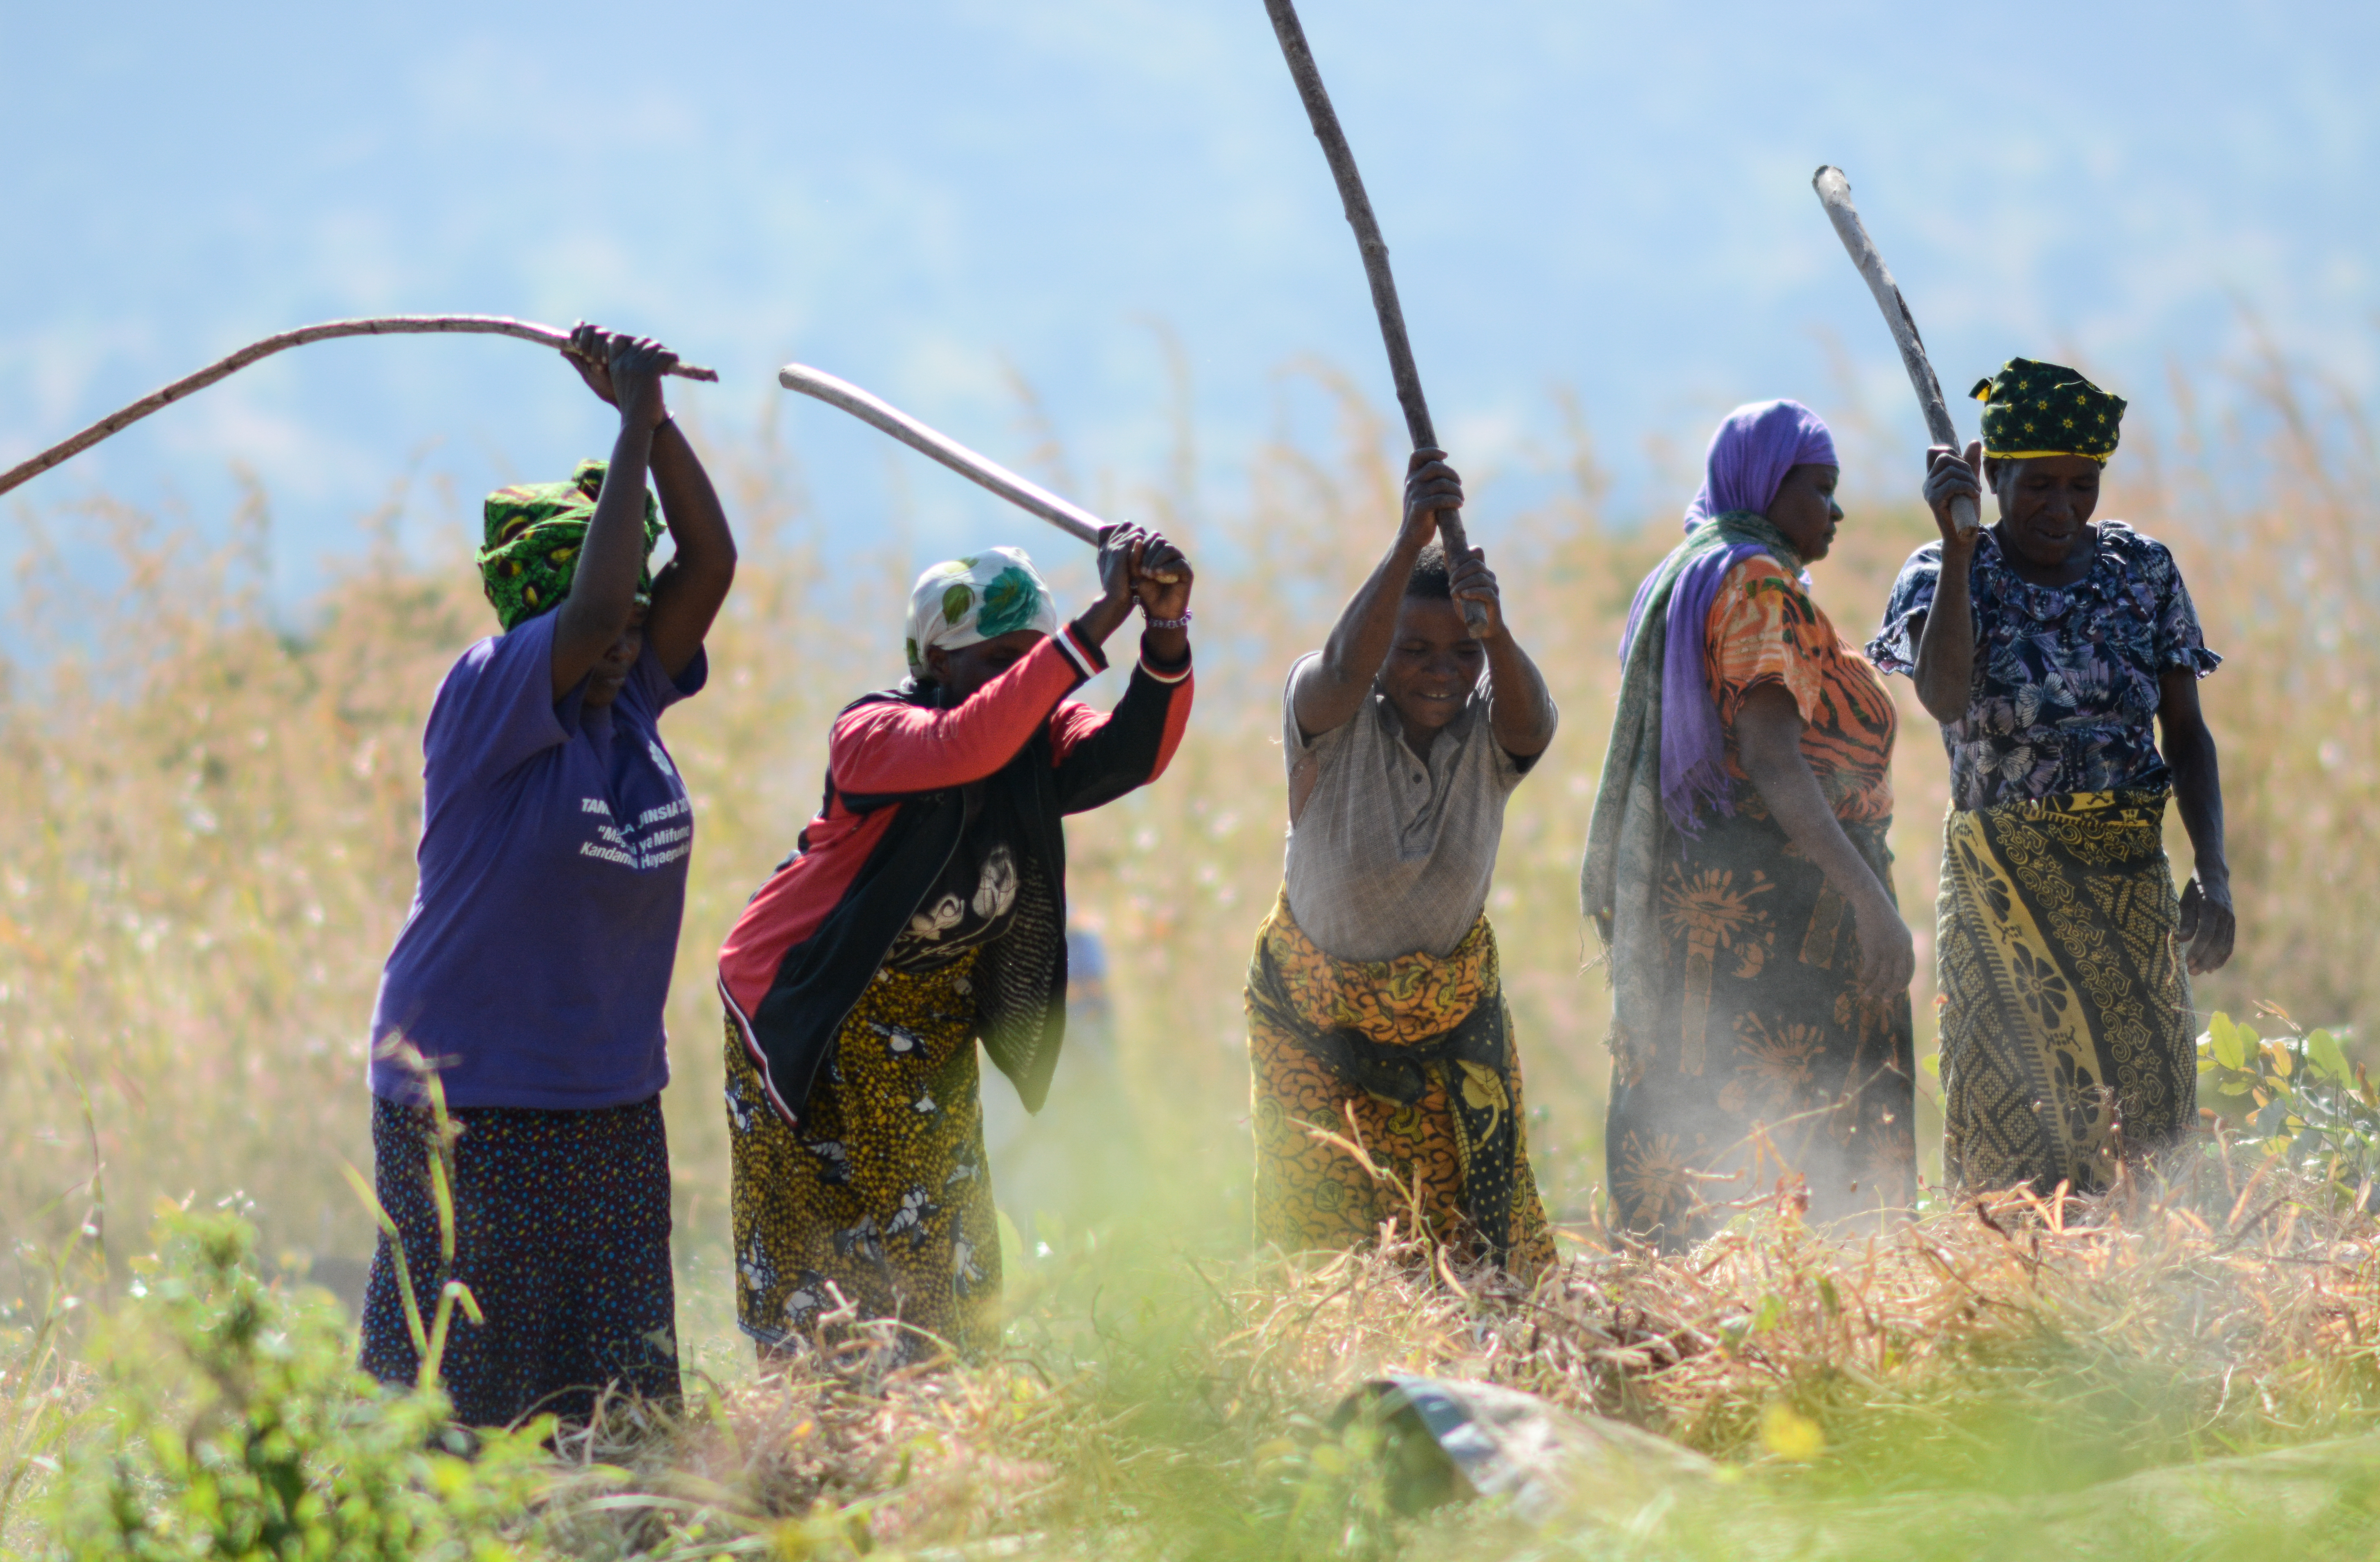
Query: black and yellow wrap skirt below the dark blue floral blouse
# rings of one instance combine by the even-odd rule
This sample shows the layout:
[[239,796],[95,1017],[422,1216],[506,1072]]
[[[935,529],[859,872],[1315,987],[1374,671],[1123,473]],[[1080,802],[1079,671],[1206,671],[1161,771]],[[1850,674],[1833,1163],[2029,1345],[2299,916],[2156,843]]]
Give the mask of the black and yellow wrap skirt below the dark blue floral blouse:
[[1942,1162],[1954,1188],[2104,1188],[2197,1124],[2166,793],[1954,810],[1942,829]]

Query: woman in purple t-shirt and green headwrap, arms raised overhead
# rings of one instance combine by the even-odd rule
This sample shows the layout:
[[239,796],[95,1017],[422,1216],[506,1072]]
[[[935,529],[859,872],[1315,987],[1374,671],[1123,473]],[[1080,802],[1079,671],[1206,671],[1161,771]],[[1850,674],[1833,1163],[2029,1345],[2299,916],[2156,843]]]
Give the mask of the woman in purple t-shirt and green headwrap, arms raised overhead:
[[[574,343],[619,407],[612,462],[488,495],[478,569],[505,633],[431,707],[421,888],[371,1017],[374,1183],[424,1312],[440,1233],[421,1064],[459,1129],[452,1279],[488,1322],[457,1314],[445,1386],[476,1426],[585,1419],[605,1383],[678,1393],[662,1000],[695,821],[657,721],[702,688],[735,541],[662,402],[676,355],[593,326]],[[676,543],[659,579],[647,469]],[[364,1372],[416,1374],[388,1236]]]

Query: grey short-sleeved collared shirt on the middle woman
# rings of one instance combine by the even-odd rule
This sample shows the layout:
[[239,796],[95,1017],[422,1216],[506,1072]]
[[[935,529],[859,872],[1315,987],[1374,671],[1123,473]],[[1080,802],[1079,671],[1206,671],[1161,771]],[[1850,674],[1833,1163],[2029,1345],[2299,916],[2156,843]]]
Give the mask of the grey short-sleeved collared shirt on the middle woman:
[[1504,800],[1530,760],[1514,760],[1488,724],[1488,679],[1418,757],[1385,695],[1309,743],[1297,731],[1297,681],[1321,652],[1290,667],[1280,698],[1280,748],[1290,793],[1314,767],[1314,791],[1290,826],[1290,914],[1326,955],[1445,960],[1488,905]]

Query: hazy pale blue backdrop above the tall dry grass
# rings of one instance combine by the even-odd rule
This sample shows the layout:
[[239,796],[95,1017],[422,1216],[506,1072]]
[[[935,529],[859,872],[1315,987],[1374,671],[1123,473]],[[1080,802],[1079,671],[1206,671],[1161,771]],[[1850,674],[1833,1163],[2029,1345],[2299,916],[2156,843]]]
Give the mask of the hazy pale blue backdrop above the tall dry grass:
[[[1818,162],[1852,174],[1954,395],[2011,352],[2073,355],[2166,419],[2168,367],[2240,362],[2249,319],[2359,393],[2380,379],[2380,10],[1302,10],[1473,469],[1518,474],[1552,443],[1557,386],[1628,512],[1683,505],[1680,460],[1761,395],[1859,402],[1866,455],[1914,462]],[[700,417],[781,417],[835,526],[904,502],[926,552],[1021,521],[835,412],[776,405],[778,362],[1019,460],[1014,369],[1090,502],[1100,474],[1161,464],[1147,319],[1190,355],[1223,491],[1278,419],[1316,417],[1283,364],[1330,360],[1388,402],[1259,0],[0,0],[0,464],[255,336],[367,312],[659,333],[726,376],[683,393]],[[409,536],[459,541],[481,491],[605,443],[602,410],[528,348],[343,343],[0,505],[105,486],[205,521],[245,467],[298,591],[405,474],[424,479]],[[1473,524],[1492,536],[1526,493],[1480,493]]]

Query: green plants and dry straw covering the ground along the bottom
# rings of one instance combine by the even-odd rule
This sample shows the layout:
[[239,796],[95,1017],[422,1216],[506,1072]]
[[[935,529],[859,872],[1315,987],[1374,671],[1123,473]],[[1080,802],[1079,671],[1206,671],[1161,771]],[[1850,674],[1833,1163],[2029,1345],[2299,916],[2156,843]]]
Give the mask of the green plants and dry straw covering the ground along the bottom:
[[[336,1302],[236,1214],[167,1207],[86,1360],[0,1355],[0,1550],[43,1557],[2368,1557],[2375,1224],[2259,1155],[2082,1210],[2011,1195],[1830,1243],[1790,1202],[1687,1262],[1587,1248],[1530,1293],[1392,1245],[1200,1260],[1147,1226],[1019,1262],[981,1367],[895,1326],[700,1374],[540,1457],[359,1393]],[[873,1336],[873,1338],[871,1338]],[[1411,1512],[1333,1405],[1392,1372],[1523,1388],[1706,1457]],[[33,1395],[24,1386],[33,1386]],[[5,1505],[10,1493],[0,1493]]]

